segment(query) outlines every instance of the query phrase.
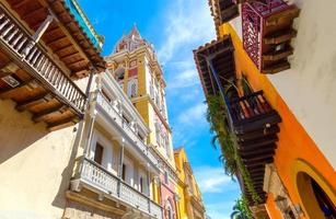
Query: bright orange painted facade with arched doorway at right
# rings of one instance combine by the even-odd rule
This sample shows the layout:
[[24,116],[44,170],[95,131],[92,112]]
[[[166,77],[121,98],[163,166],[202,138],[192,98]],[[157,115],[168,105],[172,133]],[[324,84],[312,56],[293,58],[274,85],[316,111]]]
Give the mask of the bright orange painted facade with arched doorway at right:
[[[288,108],[268,77],[262,74],[251,61],[235,30],[228,23],[221,25],[219,30],[221,35],[230,34],[232,37],[239,74],[244,72],[255,90],[262,89],[282,117],[275,164],[291,201],[301,206],[304,211],[304,215],[301,215],[302,218],[323,218],[311,185],[308,182],[312,177],[335,204],[335,170]],[[292,136],[292,134],[296,135]],[[294,145],[296,147],[288,148],[289,145]],[[271,201],[271,198],[275,197],[269,195],[267,200],[268,212],[271,218],[281,218],[279,217],[279,209],[273,203],[275,199]]]

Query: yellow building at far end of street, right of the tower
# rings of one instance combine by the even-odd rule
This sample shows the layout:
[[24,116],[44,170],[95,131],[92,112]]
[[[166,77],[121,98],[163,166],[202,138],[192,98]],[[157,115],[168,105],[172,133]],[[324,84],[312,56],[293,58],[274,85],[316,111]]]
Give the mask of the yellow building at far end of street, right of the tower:
[[178,175],[178,219],[206,219],[206,209],[185,149],[174,149]]

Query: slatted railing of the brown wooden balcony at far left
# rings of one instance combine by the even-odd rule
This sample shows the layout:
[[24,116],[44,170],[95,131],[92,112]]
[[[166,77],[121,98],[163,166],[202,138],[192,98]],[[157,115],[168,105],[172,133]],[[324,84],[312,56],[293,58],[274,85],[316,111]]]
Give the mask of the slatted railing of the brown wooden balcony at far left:
[[27,49],[32,41],[27,31],[5,9],[0,7],[1,44],[28,67],[28,73],[49,88],[62,102],[83,114],[86,95],[54,62],[40,45],[35,44],[32,49]]

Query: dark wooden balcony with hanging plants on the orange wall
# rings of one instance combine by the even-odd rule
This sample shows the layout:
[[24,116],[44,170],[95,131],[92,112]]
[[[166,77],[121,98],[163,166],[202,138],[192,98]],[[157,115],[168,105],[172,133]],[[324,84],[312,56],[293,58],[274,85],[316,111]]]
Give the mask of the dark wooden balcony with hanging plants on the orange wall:
[[[263,191],[265,164],[274,161],[278,141],[277,134],[280,131],[278,124],[281,118],[269,105],[263,91],[234,100],[225,99],[225,103],[230,128],[237,139],[239,152],[257,194],[262,201],[265,201],[266,193]],[[250,203],[253,204],[252,195],[243,181],[241,187]]]

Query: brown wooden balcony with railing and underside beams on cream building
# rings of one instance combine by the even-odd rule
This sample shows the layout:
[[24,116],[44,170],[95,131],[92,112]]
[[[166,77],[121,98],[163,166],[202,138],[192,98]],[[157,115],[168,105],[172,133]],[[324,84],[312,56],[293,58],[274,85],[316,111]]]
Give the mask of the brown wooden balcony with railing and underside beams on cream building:
[[32,35],[0,7],[0,97],[12,99],[34,122],[50,130],[82,118],[86,96],[39,44],[27,49]]

